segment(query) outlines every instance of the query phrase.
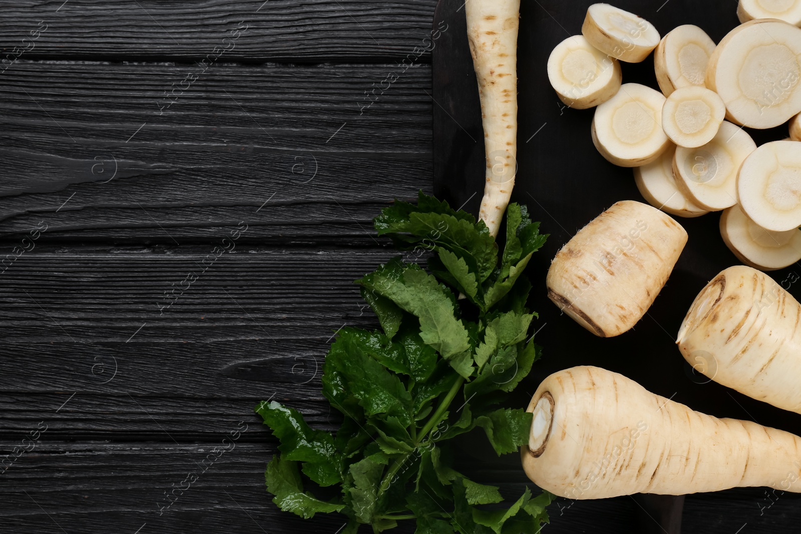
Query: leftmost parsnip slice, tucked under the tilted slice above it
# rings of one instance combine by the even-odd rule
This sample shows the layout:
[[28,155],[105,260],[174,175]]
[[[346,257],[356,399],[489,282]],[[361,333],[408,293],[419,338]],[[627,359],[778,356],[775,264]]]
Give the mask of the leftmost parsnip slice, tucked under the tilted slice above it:
[[620,89],[620,63],[574,35],[560,42],[548,58],[548,79],[557,95],[577,110],[598,106]]

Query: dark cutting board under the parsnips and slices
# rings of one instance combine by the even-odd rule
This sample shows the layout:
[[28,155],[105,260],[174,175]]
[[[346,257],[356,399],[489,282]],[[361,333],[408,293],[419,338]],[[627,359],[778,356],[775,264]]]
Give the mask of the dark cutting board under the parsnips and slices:
[[[434,191],[454,207],[464,205],[477,214],[484,190],[484,145],[476,77],[465,33],[464,3],[441,0],[434,18],[435,28],[446,28],[433,50]],[[629,376],[648,390],[699,412],[755,420],[801,434],[801,416],[740,395],[694,373],[674,344],[678,327],[698,291],[719,271],[739,264],[720,237],[719,213],[698,219],[675,218],[686,228],[688,243],[647,315],[623,335],[598,338],[562,315],[545,296],[545,274],[553,255],[579,229],[618,200],[646,202],[634,185],[631,169],[615,167],[595,150],[590,138],[594,110],[564,106],[548,82],[545,66],[550,51],[570,35],[581,33],[584,14],[592,3],[521,2],[517,41],[519,171],[512,200],[527,204],[533,218],[541,221],[541,231],[550,237],[528,270],[535,287],[531,306],[539,312],[537,342],[545,347],[544,357],[517,388],[515,401],[525,405],[541,379],[553,371],[595,365]],[[662,35],[675,26],[695,24],[719,42],[739,24],[737,5],[731,0],[621,0],[614,5],[646,18]],[[624,83],[643,83],[658,90],[651,57],[638,64],[622,63],[622,70]],[[786,126],[747,131],[757,144],[787,137]],[[793,273],[801,274],[801,265],[769,274],[781,283],[788,277],[798,279]],[[801,284],[791,286],[790,292],[799,298]],[[762,496],[762,492],[754,491],[755,498]],[[644,507],[642,513],[654,519],[643,519],[639,527],[633,524],[632,532],[637,528],[641,532],[650,532],[650,528],[653,532],[679,532],[683,497],[637,496],[637,500]],[[752,524],[759,523],[761,514],[757,512],[755,508]],[[553,517],[554,522],[570,520],[570,515]],[[686,532],[695,531],[686,528]]]

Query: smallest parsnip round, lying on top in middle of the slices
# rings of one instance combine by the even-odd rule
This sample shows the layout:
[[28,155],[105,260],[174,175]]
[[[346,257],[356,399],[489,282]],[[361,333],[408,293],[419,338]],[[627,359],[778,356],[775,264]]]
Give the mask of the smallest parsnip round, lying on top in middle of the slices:
[[679,147],[706,145],[718,133],[726,104],[712,90],[687,86],[674,90],[662,106],[662,128]]

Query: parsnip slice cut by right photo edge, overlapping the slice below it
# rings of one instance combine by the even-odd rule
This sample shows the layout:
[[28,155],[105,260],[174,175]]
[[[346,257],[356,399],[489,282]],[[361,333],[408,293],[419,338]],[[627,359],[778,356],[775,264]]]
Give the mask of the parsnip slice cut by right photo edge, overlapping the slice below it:
[[737,193],[746,215],[767,230],[801,226],[801,143],[773,141],[743,162]]

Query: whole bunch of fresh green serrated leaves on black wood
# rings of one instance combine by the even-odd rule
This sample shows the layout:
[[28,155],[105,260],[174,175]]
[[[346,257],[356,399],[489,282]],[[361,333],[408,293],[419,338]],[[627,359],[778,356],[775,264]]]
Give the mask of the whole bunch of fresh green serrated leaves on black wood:
[[[527,443],[531,414],[499,404],[540,357],[523,271],[547,235],[510,204],[499,254],[483,221],[423,193],[374,223],[399,249],[428,252],[428,270],[398,257],[356,280],[380,330],[344,327],[328,351],[336,437],[276,402],[256,408],[280,440],[266,472],[273,502],[304,518],[340,512],[344,534],[412,519],[419,534],[539,532],[553,496],[526,489],[501,504],[497,487],[453,469],[449,440],[481,428],[498,455]],[[331,488],[316,496],[308,482]]]

